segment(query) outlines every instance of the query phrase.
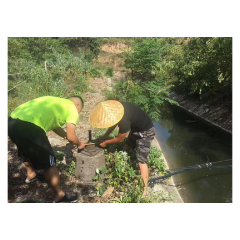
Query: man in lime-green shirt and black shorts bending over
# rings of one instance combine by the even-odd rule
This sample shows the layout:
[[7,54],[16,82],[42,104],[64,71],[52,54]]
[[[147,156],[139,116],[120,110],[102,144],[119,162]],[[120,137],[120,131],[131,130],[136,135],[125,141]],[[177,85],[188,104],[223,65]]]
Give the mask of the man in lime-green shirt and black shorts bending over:
[[[53,203],[76,202],[77,197],[64,193],[60,187],[56,158],[46,132],[52,130],[78,149],[83,149],[85,144],[75,132],[78,114],[83,106],[83,100],[79,96],[69,99],[39,97],[18,106],[7,121],[8,136],[17,145],[18,156],[27,170],[25,182],[37,180],[35,169],[43,169],[45,180],[54,191]],[[64,124],[66,132],[61,128]]]

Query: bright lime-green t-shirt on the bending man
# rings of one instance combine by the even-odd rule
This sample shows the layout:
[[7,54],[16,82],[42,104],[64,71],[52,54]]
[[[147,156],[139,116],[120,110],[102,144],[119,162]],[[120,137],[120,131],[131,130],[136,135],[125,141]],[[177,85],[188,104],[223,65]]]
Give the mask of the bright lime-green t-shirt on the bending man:
[[31,122],[48,132],[62,127],[65,123],[76,125],[78,111],[73,102],[68,99],[46,96],[18,106],[11,117]]

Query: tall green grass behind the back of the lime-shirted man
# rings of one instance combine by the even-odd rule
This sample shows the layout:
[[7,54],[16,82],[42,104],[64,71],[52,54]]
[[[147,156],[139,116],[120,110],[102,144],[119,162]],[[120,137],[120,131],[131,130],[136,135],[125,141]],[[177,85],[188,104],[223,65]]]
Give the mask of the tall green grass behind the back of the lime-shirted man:
[[51,58],[41,62],[25,55],[8,57],[8,73],[20,74],[7,76],[7,116],[34,98],[81,96],[88,89],[92,62],[85,59],[84,52],[73,55],[51,47],[49,55]]

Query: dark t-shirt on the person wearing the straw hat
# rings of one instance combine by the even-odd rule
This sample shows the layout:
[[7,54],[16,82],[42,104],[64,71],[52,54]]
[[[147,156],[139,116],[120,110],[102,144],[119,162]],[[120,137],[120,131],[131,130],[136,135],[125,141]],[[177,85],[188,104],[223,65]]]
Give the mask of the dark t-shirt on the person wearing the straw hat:
[[152,120],[141,108],[132,103],[120,103],[124,107],[124,115],[117,124],[119,133],[126,133],[130,129],[132,132],[141,132],[153,127]]

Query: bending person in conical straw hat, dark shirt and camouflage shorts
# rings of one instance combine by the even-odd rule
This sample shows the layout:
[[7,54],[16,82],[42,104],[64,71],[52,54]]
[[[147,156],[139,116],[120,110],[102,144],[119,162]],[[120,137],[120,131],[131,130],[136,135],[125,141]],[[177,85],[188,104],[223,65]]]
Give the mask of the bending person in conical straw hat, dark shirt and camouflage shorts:
[[[154,125],[149,116],[132,103],[108,100],[95,106],[90,113],[89,121],[94,127],[108,128],[106,133],[98,138],[101,147],[123,142],[130,131],[123,151],[129,152],[136,148],[136,157],[145,184],[143,195],[146,195],[149,175],[147,160],[150,145],[155,136]],[[117,126],[119,127],[118,136],[107,140]]]

